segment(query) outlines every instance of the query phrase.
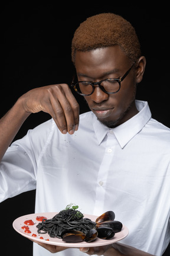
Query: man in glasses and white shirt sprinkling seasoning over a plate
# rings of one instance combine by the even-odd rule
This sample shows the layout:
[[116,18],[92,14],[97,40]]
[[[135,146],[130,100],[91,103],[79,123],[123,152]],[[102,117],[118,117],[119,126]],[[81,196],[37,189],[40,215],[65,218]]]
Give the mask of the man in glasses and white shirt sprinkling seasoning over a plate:
[[[135,101],[146,65],[135,30],[118,15],[95,15],[77,28],[72,60],[72,86],[91,111],[79,122],[79,104],[66,84],[22,95],[0,123],[1,201],[36,187],[37,213],[74,202],[93,215],[113,210],[129,228],[119,244],[80,252],[38,243],[36,256],[162,255],[170,237],[170,131],[151,118],[148,103]],[[8,148],[39,111],[53,119]]]

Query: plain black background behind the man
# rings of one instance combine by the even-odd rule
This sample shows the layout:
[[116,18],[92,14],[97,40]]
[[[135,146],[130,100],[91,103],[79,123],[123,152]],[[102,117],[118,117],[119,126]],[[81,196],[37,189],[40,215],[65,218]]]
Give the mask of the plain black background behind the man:
[[[79,24],[101,12],[122,15],[136,29],[147,65],[137,97],[146,100],[152,117],[170,127],[169,120],[169,14],[168,3],[107,4],[97,2],[91,7],[84,2],[51,4],[1,5],[1,102],[2,117],[19,96],[29,89],[57,83],[70,83],[73,73],[71,39]],[[124,3],[123,3],[124,2]],[[129,2],[129,1],[127,1]],[[137,1],[136,1],[137,2]],[[161,6],[162,4],[162,6]],[[76,96],[77,97],[77,96]],[[77,97],[80,113],[88,110]],[[45,113],[32,114],[15,139],[28,129],[50,119]],[[32,255],[32,242],[12,229],[19,216],[34,212],[35,191],[8,199],[0,205],[1,249],[4,255]],[[68,202],[69,203],[69,202]],[[166,250],[165,255],[169,255]]]

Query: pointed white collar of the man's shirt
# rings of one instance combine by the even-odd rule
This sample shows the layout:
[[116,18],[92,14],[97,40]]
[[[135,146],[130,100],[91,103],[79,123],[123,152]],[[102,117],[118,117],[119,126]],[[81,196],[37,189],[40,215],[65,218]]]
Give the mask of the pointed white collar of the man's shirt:
[[97,117],[94,116],[93,127],[98,144],[100,145],[104,137],[107,135],[107,132],[109,132],[109,130],[112,130],[115,134],[117,141],[119,142],[119,145],[121,146],[121,148],[124,148],[124,146],[136,134],[138,134],[140,130],[142,130],[145,124],[148,123],[149,119],[151,119],[151,111],[149,109],[148,102],[136,100],[136,107],[139,111],[138,114],[113,129],[109,129],[108,127],[101,124],[100,121],[97,120]]

